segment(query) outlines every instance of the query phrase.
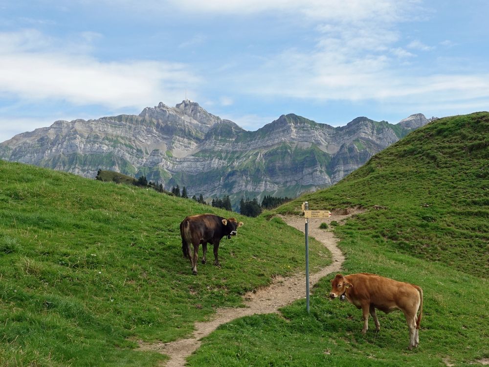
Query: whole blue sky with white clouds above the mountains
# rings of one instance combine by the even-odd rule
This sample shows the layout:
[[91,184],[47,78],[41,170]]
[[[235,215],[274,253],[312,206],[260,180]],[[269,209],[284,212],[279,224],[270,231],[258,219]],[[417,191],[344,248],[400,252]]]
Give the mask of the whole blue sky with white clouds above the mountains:
[[185,95],[257,130],[489,110],[487,0],[0,0],[0,141]]

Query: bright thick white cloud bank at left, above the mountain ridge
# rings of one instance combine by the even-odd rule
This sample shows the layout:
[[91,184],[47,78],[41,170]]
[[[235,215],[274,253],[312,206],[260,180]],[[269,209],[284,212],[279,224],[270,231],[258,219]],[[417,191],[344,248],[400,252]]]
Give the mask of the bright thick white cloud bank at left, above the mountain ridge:
[[[89,40],[99,37],[91,32],[82,36]],[[182,95],[187,83],[199,83],[183,64],[102,62],[59,50],[54,41],[33,30],[0,33],[0,94],[66,100],[75,105],[140,107],[152,100],[176,102],[175,95]]]

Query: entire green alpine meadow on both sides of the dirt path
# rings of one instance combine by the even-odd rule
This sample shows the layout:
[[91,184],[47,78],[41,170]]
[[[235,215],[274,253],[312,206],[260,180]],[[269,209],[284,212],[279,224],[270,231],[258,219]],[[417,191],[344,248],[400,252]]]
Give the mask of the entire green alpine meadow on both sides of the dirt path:
[[[400,312],[380,331],[328,299],[330,280],[280,314],[221,325],[190,366],[471,366],[489,359],[489,113],[431,121],[333,186],[257,218],[155,190],[0,161],[0,365],[163,366],[137,349],[191,334],[218,307],[304,271],[304,235],[279,215],[361,208],[327,226],[345,254],[342,274],[375,273],[424,292],[420,345],[407,350]],[[181,252],[185,216],[244,222],[223,239],[222,267],[191,274]],[[311,221],[319,227],[320,221]],[[310,241],[311,272],[331,263]],[[201,252],[200,252],[201,256]],[[370,319],[370,325],[373,325]]]

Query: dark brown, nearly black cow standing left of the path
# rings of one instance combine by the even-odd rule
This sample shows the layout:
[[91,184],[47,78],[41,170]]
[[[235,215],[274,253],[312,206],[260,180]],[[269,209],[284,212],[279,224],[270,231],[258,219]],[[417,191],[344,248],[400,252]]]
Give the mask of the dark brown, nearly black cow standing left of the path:
[[[218,251],[222,237],[237,234],[238,227],[243,226],[243,222],[237,222],[235,218],[222,218],[214,214],[198,214],[186,217],[180,223],[180,235],[182,237],[183,256],[190,259],[192,273],[197,275],[197,259],[199,245],[202,244],[202,264],[205,264],[205,254],[207,243],[214,245],[214,265],[219,266]],[[194,253],[191,253],[190,245],[194,246]]]

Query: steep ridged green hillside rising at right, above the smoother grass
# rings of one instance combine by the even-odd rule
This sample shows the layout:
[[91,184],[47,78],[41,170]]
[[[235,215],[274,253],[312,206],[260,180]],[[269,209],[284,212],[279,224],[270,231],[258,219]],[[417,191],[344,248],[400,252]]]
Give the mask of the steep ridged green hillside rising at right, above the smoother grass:
[[[356,222],[378,246],[489,275],[489,114],[432,122],[331,189],[277,209],[363,206]],[[379,209],[375,209],[377,206]]]

